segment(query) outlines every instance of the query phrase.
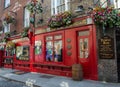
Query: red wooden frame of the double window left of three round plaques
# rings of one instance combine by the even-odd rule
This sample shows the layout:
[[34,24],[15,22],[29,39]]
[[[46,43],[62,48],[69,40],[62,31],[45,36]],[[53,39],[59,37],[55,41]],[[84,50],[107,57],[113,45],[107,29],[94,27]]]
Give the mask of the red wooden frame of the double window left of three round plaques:
[[[55,39],[54,39],[54,36],[57,36],[57,35],[61,35],[61,36],[62,36],[61,39],[56,39],[56,40],[55,40]],[[52,36],[53,39],[52,39],[52,40],[46,40],[46,37],[49,37],[49,36]],[[45,62],[49,62],[49,63],[60,63],[60,64],[61,64],[61,63],[64,63],[64,52],[63,52],[63,51],[64,51],[64,39],[63,39],[63,38],[64,38],[63,33],[54,33],[54,34],[49,34],[49,35],[45,35],[45,36],[44,36],[44,42],[45,42],[45,46],[44,46],[44,50],[45,50],[44,56],[45,56],[45,59],[44,59],[44,61],[45,61]],[[54,44],[55,44],[54,42],[55,42],[55,41],[62,41],[62,61],[57,61],[57,62],[56,62],[56,61],[55,61],[55,57],[54,57],[54,53],[52,54],[52,56],[53,56],[53,61],[47,61],[47,60],[46,60],[46,48],[47,48],[46,46],[47,46],[47,42],[49,42],[49,41],[52,41],[52,43],[53,43],[53,48],[52,48],[52,49],[54,49],[54,46],[55,46],[55,45],[54,45]],[[52,52],[53,52],[53,51],[52,51]]]

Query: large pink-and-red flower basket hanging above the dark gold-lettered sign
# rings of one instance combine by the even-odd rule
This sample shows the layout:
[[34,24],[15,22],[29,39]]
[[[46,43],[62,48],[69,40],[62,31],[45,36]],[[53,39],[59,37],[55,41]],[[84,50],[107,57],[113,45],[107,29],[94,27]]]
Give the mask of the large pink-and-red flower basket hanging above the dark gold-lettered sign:
[[120,12],[113,7],[95,7],[93,20],[96,25],[103,27],[120,27]]

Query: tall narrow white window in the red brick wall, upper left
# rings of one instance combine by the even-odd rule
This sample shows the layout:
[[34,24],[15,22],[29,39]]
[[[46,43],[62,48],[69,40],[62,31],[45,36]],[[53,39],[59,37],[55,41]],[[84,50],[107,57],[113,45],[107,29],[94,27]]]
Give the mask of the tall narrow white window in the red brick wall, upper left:
[[24,27],[30,26],[30,12],[27,8],[24,9]]

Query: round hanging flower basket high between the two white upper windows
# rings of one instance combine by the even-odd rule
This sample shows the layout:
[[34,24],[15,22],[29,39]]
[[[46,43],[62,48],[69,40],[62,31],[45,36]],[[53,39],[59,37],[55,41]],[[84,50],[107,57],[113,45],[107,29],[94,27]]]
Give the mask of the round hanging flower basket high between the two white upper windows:
[[34,3],[33,1],[31,1],[26,5],[26,8],[30,11],[31,14],[40,14],[43,12],[40,2]]

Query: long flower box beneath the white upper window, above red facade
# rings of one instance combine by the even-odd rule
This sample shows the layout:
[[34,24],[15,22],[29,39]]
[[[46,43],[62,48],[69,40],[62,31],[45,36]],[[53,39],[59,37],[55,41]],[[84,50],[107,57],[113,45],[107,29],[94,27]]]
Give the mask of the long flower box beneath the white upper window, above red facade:
[[72,14],[68,11],[54,15],[48,20],[48,26],[50,28],[59,28],[70,24],[72,24]]

